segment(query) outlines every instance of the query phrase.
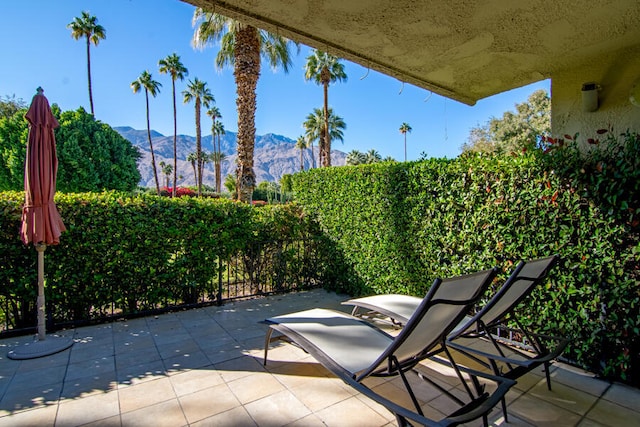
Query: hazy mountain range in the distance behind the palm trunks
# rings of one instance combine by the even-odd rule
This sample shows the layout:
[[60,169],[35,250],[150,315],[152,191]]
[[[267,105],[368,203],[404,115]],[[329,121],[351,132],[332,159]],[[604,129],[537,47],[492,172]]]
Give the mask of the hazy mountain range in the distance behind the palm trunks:
[[[147,139],[146,130],[133,129],[128,126],[120,126],[113,128],[116,132],[129,140],[134,146],[138,147],[142,157],[138,162],[138,170],[140,170],[140,185],[143,187],[154,187],[153,169],[151,167],[151,151],[149,150],[149,141]],[[220,145],[222,152],[226,154],[225,161],[222,162],[222,177],[227,175],[235,176],[236,168],[236,139],[235,132],[226,132],[221,139]],[[154,130],[151,131],[151,140],[153,141],[153,151],[156,156],[156,165],[158,168],[158,179],[160,185],[166,183],[165,176],[160,170],[160,162],[173,165],[173,135],[164,136]],[[177,153],[178,153],[178,185],[195,185],[195,176],[193,166],[187,161],[189,153],[196,151],[196,138],[189,135],[178,135],[177,137]],[[213,151],[213,142],[211,135],[202,137],[202,150],[205,153]],[[315,164],[318,164],[318,147],[314,147]],[[343,166],[347,155],[339,150],[331,150],[331,164],[335,166]],[[268,133],[266,135],[256,135],[256,144],[254,151],[253,169],[256,174],[256,181],[280,181],[282,175],[292,174],[300,171],[300,150],[296,148],[296,142],[282,135]],[[305,170],[312,166],[311,150],[307,149],[303,153],[303,163]],[[215,174],[212,163],[206,163],[202,171],[203,182],[207,185],[214,186]],[[182,175],[182,179],[180,179]],[[173,180],[173,175],[170,181]]]

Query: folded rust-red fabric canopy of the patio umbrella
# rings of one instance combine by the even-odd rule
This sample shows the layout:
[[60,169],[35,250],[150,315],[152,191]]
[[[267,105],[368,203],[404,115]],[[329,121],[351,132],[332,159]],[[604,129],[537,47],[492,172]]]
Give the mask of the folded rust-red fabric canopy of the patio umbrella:
[[24,171],[25,205],[20,236],[29,242],[57,245],[66,230],[53,201],[56,192],[58,158],[53,130],[59,126],[49,101],[38,88],[25,118],[29,122],[29,140]]

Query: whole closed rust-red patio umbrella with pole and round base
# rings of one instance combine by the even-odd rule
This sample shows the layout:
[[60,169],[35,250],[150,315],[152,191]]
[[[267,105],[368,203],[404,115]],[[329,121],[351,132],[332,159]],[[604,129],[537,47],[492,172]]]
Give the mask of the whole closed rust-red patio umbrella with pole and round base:
[[25,245],[33,243],[38,253],[38,340],[9,352],[11,359],[30,359],[62,351],[73,344],[70,338],[46,339],[44,298],[44,251],[47,245],[60,243],[66,230],[53,201],[56,192],[58,158],[53,130],[58,121],[49,101],[37,89],[25,118],[29,122],[29,140],[24,170],[25,205],[20,237]]

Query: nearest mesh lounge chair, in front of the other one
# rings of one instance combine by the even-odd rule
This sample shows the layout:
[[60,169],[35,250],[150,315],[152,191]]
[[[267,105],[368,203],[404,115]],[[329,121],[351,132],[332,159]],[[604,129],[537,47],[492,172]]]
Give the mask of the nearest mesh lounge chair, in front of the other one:
[[[264,363],[267,364],[269,344],[275,339],[286,339],[311,354],[345,383],[385,406],[395,414],[399,425],[452,426],[480,417],[486,424],[487,413],[515,382],[462,368],[474,379],[475,392],[467,389],[472,400],[448,417],[434,421],[424,416],[405,373],[432,353],[442,351],[446,337],[486,290],[495,274],[493,269],[444,281],[436,279],[414,315],[395,337],[369,322],[333,310],[312,309],[266,319],[270,328],[265,339]],[[272,338],[274,330],[281,335]],[[457,366],[453,367],[458,372]],[[397,375],[402,378],[415,411],[386,399],[363,384],[370,376]],[[497,383],[492,394],[483,391],[476,375]]]

